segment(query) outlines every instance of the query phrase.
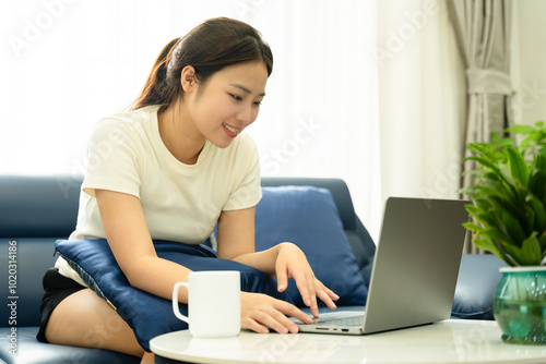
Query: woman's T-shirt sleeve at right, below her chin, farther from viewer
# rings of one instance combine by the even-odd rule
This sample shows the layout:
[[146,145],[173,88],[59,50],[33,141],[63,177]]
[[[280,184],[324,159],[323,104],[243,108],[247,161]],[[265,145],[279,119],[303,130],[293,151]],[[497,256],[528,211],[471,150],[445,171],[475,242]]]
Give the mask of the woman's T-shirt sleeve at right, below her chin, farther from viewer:
[[258,205],[262,197],[258,148],[249,135],[241,134],[239,137],[236,167],[239,175],[235,179],[236,183],[223,210],[249,208]]

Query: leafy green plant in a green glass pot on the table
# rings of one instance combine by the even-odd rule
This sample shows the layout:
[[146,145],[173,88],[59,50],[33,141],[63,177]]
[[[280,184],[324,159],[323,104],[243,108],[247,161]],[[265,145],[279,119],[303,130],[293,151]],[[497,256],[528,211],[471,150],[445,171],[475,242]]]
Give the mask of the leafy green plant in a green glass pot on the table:
[[473,205],[473,243],[505,260],[495,318],[507,342],[546,344],[546,128],[544,122],[506,130],[470,143],[474,162],[465,193]]

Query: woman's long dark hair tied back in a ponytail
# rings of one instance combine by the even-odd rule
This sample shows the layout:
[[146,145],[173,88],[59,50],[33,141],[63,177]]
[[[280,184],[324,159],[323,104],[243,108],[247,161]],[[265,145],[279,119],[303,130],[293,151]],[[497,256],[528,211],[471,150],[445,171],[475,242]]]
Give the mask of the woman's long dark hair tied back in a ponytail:
[[130,109],[161,105],[158,112],[165,111],[183,95],[180,76],[187,65],[195,69],[197,81],[204,85],[223,68],[248,61],[263,61],[271,75],[273,54],[260,33],[244,22],[211,19],[163,48]]

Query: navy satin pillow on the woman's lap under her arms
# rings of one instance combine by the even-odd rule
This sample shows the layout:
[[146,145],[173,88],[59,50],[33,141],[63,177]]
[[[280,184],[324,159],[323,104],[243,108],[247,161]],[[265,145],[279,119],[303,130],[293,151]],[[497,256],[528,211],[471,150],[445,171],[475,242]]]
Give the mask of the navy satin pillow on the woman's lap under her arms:
[[[204,245],[154,241],[154,246],[159,257],[191,270],[239,270],[242,291],[290,302],[284,292],[277,292],[275,281],[268,275],[237,262],[218,259]],[[150,340],[156,336],[188,328],[173,313],[171,301],[129,284],[106,240],[58,240],[55,247],[83,281],[129,324],[144,350],[150,351]],[[188,305],[180,304],[179,308],[188,315]]]

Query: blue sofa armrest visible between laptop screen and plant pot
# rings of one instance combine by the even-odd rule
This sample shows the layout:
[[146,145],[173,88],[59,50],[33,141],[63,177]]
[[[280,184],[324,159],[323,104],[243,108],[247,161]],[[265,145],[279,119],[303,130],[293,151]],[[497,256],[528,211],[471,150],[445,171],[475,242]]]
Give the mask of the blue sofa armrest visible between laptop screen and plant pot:
[[506,266],[491,254],[463,254],[452,317],[494,319],[492,303],[501,277],[499,268]]

